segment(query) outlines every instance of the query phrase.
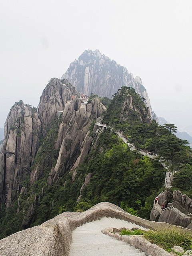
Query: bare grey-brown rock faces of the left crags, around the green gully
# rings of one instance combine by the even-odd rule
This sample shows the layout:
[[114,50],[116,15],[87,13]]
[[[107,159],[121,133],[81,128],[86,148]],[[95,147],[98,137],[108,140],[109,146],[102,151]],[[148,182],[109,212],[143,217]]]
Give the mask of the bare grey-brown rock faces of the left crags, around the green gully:
[[[72,95],[76,98],[70,100]],[[66,79],[54,78],[43,91],[38,113],[36,108],[24,106],[22,101],[11,108],[5,123],[4,146],[0,154],[0,208],[4,204],[6,208],[13,206],[18,199],[17,214],[23,210],[20,199],[22,195],[26,195],[30,186],[39,178],[47,178],[42,173],[42,166],[47,165],[46,167],[50,168],[46,184],[50,186],[84,160],[92,142],[92,137],[89,136],[90,125],[106,108],[98,98],[90,100],[87,104],[82,104],[78,98],[80,93]],[[58,111],[60,118],[57,118]],[[45,129],[47,126],[47,130],[52,128],[52,120],[57,127],[53,132],[52,150],[58,150],[59,153],[54,156],[54,161],[50,162],[48,152],[45,159],[44,155],[40,158],[39,154],[38,161],[34,164],[36,153],[42,148],[39,147],[40,136],[44,135],[44,141],[52,136],[47,134]],[[22,181],[29,175],[31,183],[28,182],[22,187]],[[35,220],[38,202],[43,196],[43,188],[40,196],[33,192],[29,194],[27,201],[32,203],[25,209],[22,228],[28,228]]]

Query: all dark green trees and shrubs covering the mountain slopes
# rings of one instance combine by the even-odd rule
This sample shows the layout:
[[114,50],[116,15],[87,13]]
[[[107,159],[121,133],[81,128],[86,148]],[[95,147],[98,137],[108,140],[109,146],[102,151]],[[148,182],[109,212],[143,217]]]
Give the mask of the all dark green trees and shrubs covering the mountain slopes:
[[[96,95],[92,94],[89,100]],[[132,99],[131,99],[132,98]],[[176,188],[190,190],[192,186],[191,151],[185,146],[186,141],[176,138],[172,133],[174,126],[159,126],[150,122],[145,100],[133,88],[123,87],[112,100],[103,98],[105,106],[104,123],[120,130],[129,142],[138,149],[150,151],[162,156],[167,163],[172,162],[172,170],[176,170]],[[133,109],[126,102],[132,101]],[[62,116],[54,119],[46,128],[47,136],[41,136],[41,148],[31,167],[31,172],[38,168],[38,177],[31,184],[30,173],[22,177],[22,185],[26,188],[14,206],[6,212],[2,210],[0,218],[0,238],[8,236],[23,228],[39,225],[64,211],[84,211],[99,202],[108,201],[116,204],[142,218],[149,218],[154,198],[164,190],[165,169],[159,159],[152,160],[137,152],[130,151],[110,129],[104,130],[99,138],[95,134],[94,123],[90,126],[93,138],[92,148],[84,163],[72,173],[60,173],[57,182],[47,184],[48,174],[55,166],[59,150],[55,148],[58,127]],[[87,174],[91,173],[90,183],[82,192],[81,202],[76,200]],[[33,209],[29,215],[29,209]],[[18,212],[18,213],[16,213]]]

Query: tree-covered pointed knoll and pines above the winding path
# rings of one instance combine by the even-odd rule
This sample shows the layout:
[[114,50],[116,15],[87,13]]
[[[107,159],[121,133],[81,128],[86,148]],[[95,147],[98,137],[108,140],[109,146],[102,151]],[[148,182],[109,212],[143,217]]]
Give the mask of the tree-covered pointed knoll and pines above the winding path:
[[[132,106],[137,108],[138,112],[125,110],[128,116],[122,120],[124,101],[129,97],[132,97]],[[141,117],[141,114],[144,115]],[[136,94],[133,88],[122,87],[109,104],[104,114],[104,122],[122,132],[128,142],[134,143],[136,148],[158,154],[166,161],[171,160],[174,170],[180,163],[191,164],[191,149],[186,146],[188,142],[173,134],[177,130],[176,126],[174,124],[160,126],[156,120],[149,123],[146,114],[147,107],[144,100]]]

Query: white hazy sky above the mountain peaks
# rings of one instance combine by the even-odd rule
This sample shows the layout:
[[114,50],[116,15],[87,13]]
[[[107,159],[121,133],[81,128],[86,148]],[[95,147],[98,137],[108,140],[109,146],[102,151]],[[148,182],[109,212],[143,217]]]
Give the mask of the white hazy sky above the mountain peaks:
[[2,0],[0,127],[87,49],[140,76],[158,116],[192,125],[191,0]]

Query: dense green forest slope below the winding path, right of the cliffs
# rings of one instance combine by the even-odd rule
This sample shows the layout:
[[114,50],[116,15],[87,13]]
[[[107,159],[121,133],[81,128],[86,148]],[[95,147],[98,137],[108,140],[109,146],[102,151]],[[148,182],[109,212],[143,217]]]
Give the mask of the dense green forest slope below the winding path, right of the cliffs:
[[82,201],[92,205],[111,202],[125,210],[134,209],[134,214],[144,218],[149,218],[152,206],[150,202],[148,207],[148,197],[162,187],[165,175],[158,160],[130,152],[109,129],[101,134],[97,148],[78,168],[76,179],[88,173],[92,178],[83,190]]

